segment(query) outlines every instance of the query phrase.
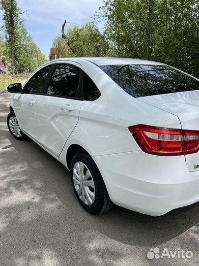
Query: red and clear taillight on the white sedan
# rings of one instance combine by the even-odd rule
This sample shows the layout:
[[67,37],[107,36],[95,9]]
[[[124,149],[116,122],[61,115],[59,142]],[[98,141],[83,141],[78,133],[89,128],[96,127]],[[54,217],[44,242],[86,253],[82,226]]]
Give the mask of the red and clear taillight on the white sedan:
[[143,152],[176,156],[199,151],[199,131],[159,128],[146,125],[128,127]]

